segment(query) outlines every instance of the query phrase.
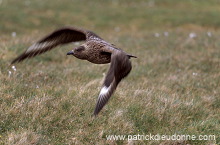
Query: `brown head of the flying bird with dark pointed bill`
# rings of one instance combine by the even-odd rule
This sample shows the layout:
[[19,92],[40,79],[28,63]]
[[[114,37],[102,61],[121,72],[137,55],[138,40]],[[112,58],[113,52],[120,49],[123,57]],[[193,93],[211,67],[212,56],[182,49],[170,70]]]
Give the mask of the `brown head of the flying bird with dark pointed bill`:
[[79,59],[86,59],[87,54],[85,50],[86,50],[85,47],[81,45],[79,47],[74,48],[73,50],[68,52],[66,55],[73,55]]

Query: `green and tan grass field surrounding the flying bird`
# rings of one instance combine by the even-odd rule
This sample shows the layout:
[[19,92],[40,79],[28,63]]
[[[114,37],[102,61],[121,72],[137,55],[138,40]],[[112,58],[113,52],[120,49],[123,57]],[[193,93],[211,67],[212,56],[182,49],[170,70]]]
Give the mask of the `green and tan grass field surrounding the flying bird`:
[[[0,144],[220,144],[219,0],[0,0]],[[62,26],[92,30],[133,70],[91,117],[109,65],[58,47],[10,62]],[[107,140],[106,135],[215,135]]]

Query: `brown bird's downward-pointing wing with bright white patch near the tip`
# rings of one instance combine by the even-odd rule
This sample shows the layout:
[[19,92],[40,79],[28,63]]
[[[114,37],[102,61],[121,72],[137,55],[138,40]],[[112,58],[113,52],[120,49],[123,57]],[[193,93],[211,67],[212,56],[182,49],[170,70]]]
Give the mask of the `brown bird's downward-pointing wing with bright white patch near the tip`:
[[129,57],[122,51],[115,50],[111,55],[111,65],[105,77],[103,87],[100,91],[94,115],[98,115],[108,102],[119,82],[131,71]]

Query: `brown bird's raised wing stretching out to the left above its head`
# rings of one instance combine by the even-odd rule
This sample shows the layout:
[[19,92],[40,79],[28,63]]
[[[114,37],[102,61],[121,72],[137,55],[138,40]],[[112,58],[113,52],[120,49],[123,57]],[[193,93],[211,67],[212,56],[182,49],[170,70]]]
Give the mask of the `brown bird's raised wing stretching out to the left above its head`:
[[63,45],[70,42],[85,41],[91,38],[101,39],[99,36],[91,31],[74,27],[61,28],[31,45],[24,53],[15,58],[12,61],[12,64],[15,62],[20,62],[26,58],[34,57],[36,55],[44,53],[48,50],[55,48],[58,45]]

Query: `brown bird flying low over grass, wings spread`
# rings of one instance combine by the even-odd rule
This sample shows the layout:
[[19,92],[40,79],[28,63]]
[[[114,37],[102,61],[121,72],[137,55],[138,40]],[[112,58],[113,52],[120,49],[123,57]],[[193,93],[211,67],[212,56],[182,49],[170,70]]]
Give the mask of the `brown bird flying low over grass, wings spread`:
[[106,42],[92,31],[64,27],[55,30],[31,45],[24,53],[15,58],[12,64],[49,51],[58,45],[77,41],[85,41],[85,43],[73,48],[67,55],[95,64],[111,63],[94,110],[94,115],[96,116],[108,102],[120,81],[130,73],[132,69],[130,58],[137,58],[136,56],[130,55],[115,45]]

